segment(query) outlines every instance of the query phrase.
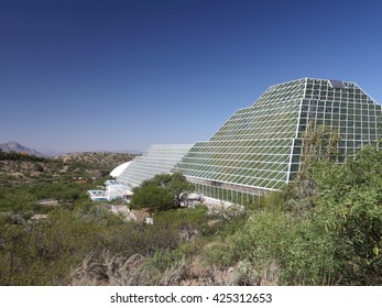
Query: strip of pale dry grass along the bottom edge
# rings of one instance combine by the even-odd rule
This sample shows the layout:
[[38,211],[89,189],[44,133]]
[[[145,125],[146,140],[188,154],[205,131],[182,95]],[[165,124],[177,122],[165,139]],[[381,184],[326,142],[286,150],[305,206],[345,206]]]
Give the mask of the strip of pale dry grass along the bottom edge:
[[130,257],[111,256],[103,252],[101,262],[89,254],[72,272],[67,285],[72,286],[274,286],[279,284],[280,266],[272,262],[260,270],[250,263],[220,268],[205,266],[199,257],[175,262],[164,273],[148,265],[148,258],[134,254]]

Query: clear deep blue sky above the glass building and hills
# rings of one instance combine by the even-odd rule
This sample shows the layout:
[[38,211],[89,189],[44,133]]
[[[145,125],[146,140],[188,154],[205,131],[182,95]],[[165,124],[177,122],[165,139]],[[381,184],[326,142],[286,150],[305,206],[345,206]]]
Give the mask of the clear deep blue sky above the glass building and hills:
[[0,143],[195,143],[303,77],[382,102],[382,2],[0,1]]

